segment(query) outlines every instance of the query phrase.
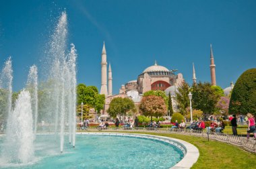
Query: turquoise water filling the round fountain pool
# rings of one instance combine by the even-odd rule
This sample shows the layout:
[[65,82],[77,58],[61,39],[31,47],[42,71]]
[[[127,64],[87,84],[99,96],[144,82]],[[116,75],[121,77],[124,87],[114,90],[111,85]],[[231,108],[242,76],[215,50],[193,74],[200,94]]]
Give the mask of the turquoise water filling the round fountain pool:
[[32,164],[0,168],[170,168],[184,156],[164,142],[117,135],[77,135],[75,149],[66,144],[64,151],[55,148],[53,135],[38,135]]

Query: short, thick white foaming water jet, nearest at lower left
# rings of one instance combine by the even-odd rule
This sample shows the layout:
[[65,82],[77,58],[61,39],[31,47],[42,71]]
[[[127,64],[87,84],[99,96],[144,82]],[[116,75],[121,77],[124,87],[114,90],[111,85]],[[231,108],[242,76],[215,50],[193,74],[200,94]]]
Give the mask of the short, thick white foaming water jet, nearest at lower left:
[[9,115],[4,158],[11,163],[28,163],[34,157],[34,131],[31,108],[31,97],[23,90],[15,102],[15,108]]

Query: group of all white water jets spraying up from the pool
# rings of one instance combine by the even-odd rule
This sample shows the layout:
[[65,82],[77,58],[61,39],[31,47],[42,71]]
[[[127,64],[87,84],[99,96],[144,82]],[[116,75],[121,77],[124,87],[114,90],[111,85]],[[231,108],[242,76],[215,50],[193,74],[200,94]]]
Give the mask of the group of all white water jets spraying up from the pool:
[[[50,133],[55,133],[53,146],[59,144],[59,151],[63,153],[65,144],[65,129],[69,131],[69,144],[75,148],[76,129],[76,50],[71,44],[70,52],[66,51],[67,15],[62,13],[53,36],[51,36],[49,60],[51,64],[47,79],[38,83],[38,68],[30,67],[26,89],[18,95],[15,107],[12,109],[12,68],[11,58],[5,62],[1,71],[0,89],[5,91],[7,104],[6,137],[3,142],[1,159],[9,163],[27,164],[34,160],[34,140],[36,133],[45,132],[38,128],[39,121],[45,121]],[[43,87],[38,84],[44,83]],[[38,107],[38,91],[43,93],[44,100]],[[49,110],[42,113],[42,109]],[[54,131],[52,130],[54,126]],[[39,129],[39,130],[38,130]],[[59,135],[59,136],[58,136]],[[47,136],[44,137],[47,139]],[[56,149],[57,150],[57,149]]]

